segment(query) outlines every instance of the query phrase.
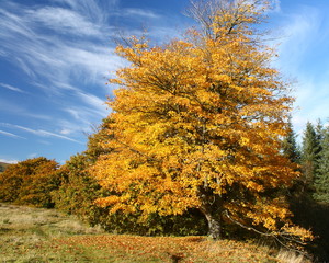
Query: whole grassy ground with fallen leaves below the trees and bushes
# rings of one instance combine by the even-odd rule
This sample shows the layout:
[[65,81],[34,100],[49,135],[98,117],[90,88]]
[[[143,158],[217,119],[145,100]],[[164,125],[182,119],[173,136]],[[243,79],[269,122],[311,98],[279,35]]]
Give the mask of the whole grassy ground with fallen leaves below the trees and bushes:
[[0,204],[0,262],[305,262],[294,256],[205,237],[110,235],[54,209]]

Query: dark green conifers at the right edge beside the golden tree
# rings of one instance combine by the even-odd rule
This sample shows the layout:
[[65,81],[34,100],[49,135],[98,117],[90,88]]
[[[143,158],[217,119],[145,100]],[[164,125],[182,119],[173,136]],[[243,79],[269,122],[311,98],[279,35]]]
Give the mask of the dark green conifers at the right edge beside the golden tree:
[[329,129],[320,121],[307,123],[302,150],[303,174],[290,196],[293,220],[313,230],[317,238],[307,249],[317,254],[317,262],[325,262],[329,258]]

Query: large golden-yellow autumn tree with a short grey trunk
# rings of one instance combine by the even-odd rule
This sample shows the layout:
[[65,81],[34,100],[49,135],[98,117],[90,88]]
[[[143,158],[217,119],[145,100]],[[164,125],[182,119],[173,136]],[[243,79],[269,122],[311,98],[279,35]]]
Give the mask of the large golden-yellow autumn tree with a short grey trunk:
[[215,239],[223,220],[310,237],[287,227],[291,213],[275,192],[298,172],[281,152],[293,99],[254,32],[266,8],[192,2],[198,30],[162,46],[134,36],[117,46],[131,64],[110,80],[118,89],[103,144],[113,151],[91,170],[112,193],[100,206],[141,210],[140,220],[196,208]]

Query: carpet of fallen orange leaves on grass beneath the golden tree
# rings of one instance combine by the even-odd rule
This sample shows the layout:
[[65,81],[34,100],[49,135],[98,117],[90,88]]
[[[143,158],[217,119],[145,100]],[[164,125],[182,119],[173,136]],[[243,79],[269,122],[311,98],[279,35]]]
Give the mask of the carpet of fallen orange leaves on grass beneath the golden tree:
[[103,235],[65,238],[57,242],[71,250],[92,248],[98,262],[277,262],[254,245],[204,237]]

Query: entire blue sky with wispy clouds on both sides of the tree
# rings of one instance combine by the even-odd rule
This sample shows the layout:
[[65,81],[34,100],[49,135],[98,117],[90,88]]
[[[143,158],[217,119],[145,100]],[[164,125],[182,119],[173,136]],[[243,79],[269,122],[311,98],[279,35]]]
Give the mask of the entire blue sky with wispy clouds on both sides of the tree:
[[[156,43],[193,21],[189,0],[1,0],[0,161],[44,156],[63,163],[86,149],[106,117],[106,80],[125,64],[114,39],[147,28]],[[296,80],[293,124],[326,121],[329,110],[329,2],[276,0],[266,27],[274,65]]]

